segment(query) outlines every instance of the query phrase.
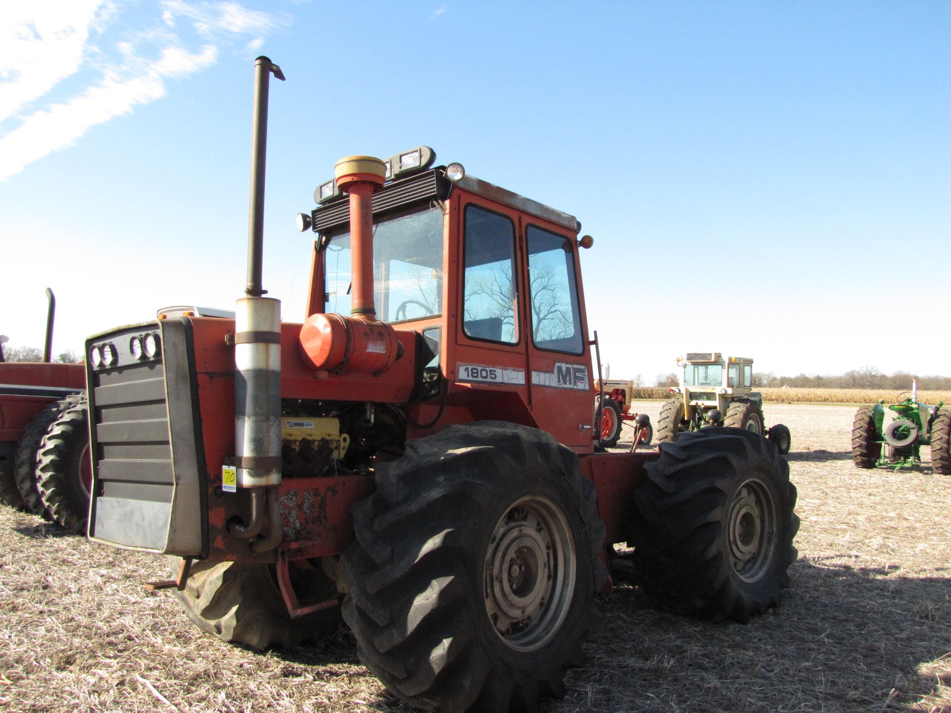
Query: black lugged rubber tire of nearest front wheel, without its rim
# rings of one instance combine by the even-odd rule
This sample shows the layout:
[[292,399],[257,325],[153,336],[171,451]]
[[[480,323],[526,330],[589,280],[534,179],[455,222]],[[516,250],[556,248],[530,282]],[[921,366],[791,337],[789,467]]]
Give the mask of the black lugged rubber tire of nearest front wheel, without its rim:
[[[579,565],[579,576],[590,579],[575,588],[557,635],[565,643],[526,671],[492,655],[487,639],[495,633],[477,631],[467,612],[481,590],[475,542],[498,489],[512,473],[541,468],[575,493],[588,545],[579,560],[590,563]],[[376,491],[353,508],[357,537],[340,558],[343,618],[360,660],[400,699],[429,710],[534,710],[539,698],[563,694],[565,671],[584,660],[581,639],[599,620],[593,595],[608,575],[598,559],[604,524],[577,456],[550,434],[483,421],[408,441],[403,457],[378,465],[376,478]]]

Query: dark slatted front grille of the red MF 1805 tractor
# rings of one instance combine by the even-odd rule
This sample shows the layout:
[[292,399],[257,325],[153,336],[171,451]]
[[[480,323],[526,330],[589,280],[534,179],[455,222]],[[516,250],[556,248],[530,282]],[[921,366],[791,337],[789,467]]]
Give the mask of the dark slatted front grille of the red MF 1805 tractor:
[[[130,337],[161,334],[160,356],[140,361]],[[92,337],[114,355],[87,366],[93,491],[89,537],[153,552],[204,552],[207,480],[200,445],[193,337],[187,318]]]

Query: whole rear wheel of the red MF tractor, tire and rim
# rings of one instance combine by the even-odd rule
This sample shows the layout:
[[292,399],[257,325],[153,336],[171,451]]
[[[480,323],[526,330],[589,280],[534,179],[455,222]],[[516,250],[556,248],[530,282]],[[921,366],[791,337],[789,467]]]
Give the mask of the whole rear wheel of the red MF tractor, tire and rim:
[[661,606],[704,619],[776,607],[796,561],[796,488],[766,438],[703,429],[664,444],[634,491],[631,545],[644,589]]

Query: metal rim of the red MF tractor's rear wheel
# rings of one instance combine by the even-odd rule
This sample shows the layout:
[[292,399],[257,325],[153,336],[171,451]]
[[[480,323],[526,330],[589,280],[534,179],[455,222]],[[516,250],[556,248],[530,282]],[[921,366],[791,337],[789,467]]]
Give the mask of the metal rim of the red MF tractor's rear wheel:
[[757,581],[769,567],[776,540],[776,507],[761,481],[747,480],[736,491],[727,529],[733,571],[744,582]]

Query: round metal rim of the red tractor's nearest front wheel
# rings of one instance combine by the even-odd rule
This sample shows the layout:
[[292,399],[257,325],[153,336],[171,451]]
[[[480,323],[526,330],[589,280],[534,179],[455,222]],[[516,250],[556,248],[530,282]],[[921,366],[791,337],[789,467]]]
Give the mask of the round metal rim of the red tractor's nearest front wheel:
[[485,557],[485,608],[495,634],[515,651],[545,646],[572,604],[574,539],[564,513],[529,495],[495,524]]

